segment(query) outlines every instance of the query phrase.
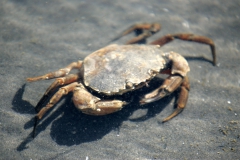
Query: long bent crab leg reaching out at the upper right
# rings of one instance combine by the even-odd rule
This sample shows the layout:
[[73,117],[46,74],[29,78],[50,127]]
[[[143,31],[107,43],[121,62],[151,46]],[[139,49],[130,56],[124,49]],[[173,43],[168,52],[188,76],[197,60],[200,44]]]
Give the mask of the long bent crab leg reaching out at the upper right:
[[175,38],[181,39],[184,41],[193,41],[193,42],[198,42],[198,43],[209,45],[210,49],[212,51],[213,65],[214,66],[216,65],[215,45],[214,45],[213,40],[211,40],[208,37],[194,35],[194,34],[190,34],[190,33],[167,34],[167,35],[151,42],[150,44],[163,46],[163,45],[173,41]]

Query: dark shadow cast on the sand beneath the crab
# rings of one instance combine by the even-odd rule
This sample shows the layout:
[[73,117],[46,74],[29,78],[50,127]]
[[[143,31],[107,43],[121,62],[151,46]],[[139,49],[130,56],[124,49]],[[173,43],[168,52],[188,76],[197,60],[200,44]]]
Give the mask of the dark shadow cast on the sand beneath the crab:
[[[56,105],[55,108],[49,111],[50,113],[48,112],[45,118],[39,122],[36,136],[51,125],[51,138],[59,145],[72,146],[96,141],[111,131],[120,131],[123,121],[129,120],[133,123],[145,121],[159,114],[171,100],[177,96],[177,93],[173,93],[157,102],[140,106],[139,99],[141,96],[158,87],[161,83],[162,80],[155,80],[150,83],[150,87],[128,93],[127,97],[133,97],[131,98],[131,102],[121,111],[105,116],[90,116],[81,113],[74,107],[71,100],[72,95],[69,94],[62,99],[64,102]],[[36,113],[34,106],[22,99],[25,86],[24,84],[22,88],[16,92],[12,101],[12,109],[21,114],[33,114],[33,118],[24,125],[24,129],[29,129],[34,125],[34,114]],[[147,113],[136,119],[129,119],[138,109],[147,109]],[[32,140],[34,139],[32,138],[32,133],[30,133],[17,147],[17,150],[22,151],[27,149],[27,144]]]

